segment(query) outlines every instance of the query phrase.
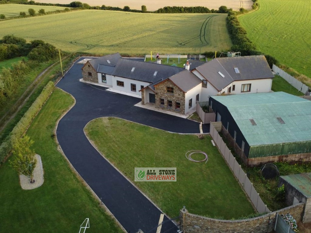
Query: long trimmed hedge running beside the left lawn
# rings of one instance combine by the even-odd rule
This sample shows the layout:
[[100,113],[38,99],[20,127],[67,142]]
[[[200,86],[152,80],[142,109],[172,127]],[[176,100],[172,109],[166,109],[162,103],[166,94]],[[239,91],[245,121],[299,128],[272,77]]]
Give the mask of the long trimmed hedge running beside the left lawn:
[[12,145],[14,144],[16,139],[21,138],[21,136],[26,132],[32,120],[35,118],[35,116],[40,111],[41,107],[47,101],[54,88],[55,88],[54,83],[52,81],[49,81],[48,84],[42,90],[41,94],[38,96],[38,98],[36,98],[35,102],[30,106],[25,115],[13,128],[10,135],[7,136],[6,140],[1,144],[0,163],[2,163],[4,159],[7,157],[7,155],[11,152]]

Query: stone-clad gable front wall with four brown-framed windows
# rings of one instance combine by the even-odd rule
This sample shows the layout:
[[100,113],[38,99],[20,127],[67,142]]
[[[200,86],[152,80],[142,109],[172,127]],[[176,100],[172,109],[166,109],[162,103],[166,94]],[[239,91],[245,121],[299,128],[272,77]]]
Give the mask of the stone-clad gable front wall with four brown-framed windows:
[[[166,87],[173,87],[174,94],[166,93]],[[178,112],[185,114],[185,93],[175,86],[170,80],[166,80],[162,83],[159,83],[155,86],[156,91],[156,107],[160,109],[165,109],[171,112]],[[160,98],[164,99],[164,105],[160,105]],[[171,100],[172,107],[167,107],[167,101]],[[180,110],[175,109],[175,103],[180,103]]]

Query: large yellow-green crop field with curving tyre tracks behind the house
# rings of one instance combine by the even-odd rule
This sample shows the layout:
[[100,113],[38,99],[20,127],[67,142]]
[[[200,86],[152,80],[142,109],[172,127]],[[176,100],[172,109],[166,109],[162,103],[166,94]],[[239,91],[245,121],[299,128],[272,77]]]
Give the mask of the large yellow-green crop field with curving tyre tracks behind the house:
[[0,37],[41,39],[67,52],[199,54],[231,47],[225,18],[225,14],[84,10],[2,21]]

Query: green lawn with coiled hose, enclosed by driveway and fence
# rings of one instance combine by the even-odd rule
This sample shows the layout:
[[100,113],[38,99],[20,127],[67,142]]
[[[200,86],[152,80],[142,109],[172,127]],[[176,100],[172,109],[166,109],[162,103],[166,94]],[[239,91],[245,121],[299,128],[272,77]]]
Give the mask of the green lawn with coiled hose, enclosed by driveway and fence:
[[[209,135],[200,140],[111,117],[91,121],[86,132],[133,183],[134,167],[177,167],[177,182],[135,182],[171,217],[179,215],[183,205],[190,213],[225,219],[254,213]],[[208,162],[189,161],[189,150],[205,151]]]

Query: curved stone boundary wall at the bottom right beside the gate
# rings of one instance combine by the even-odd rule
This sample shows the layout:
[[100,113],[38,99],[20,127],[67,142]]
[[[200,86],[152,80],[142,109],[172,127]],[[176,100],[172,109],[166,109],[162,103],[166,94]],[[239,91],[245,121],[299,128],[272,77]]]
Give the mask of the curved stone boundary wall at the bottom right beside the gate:
[[260,217],[244,220],[219,220],[191,214],[187,209],[180,210],[181,230],[183,233],[266,233],[274,230],[277,213],[290,213],[301,222],[304,203],[290,206]]

